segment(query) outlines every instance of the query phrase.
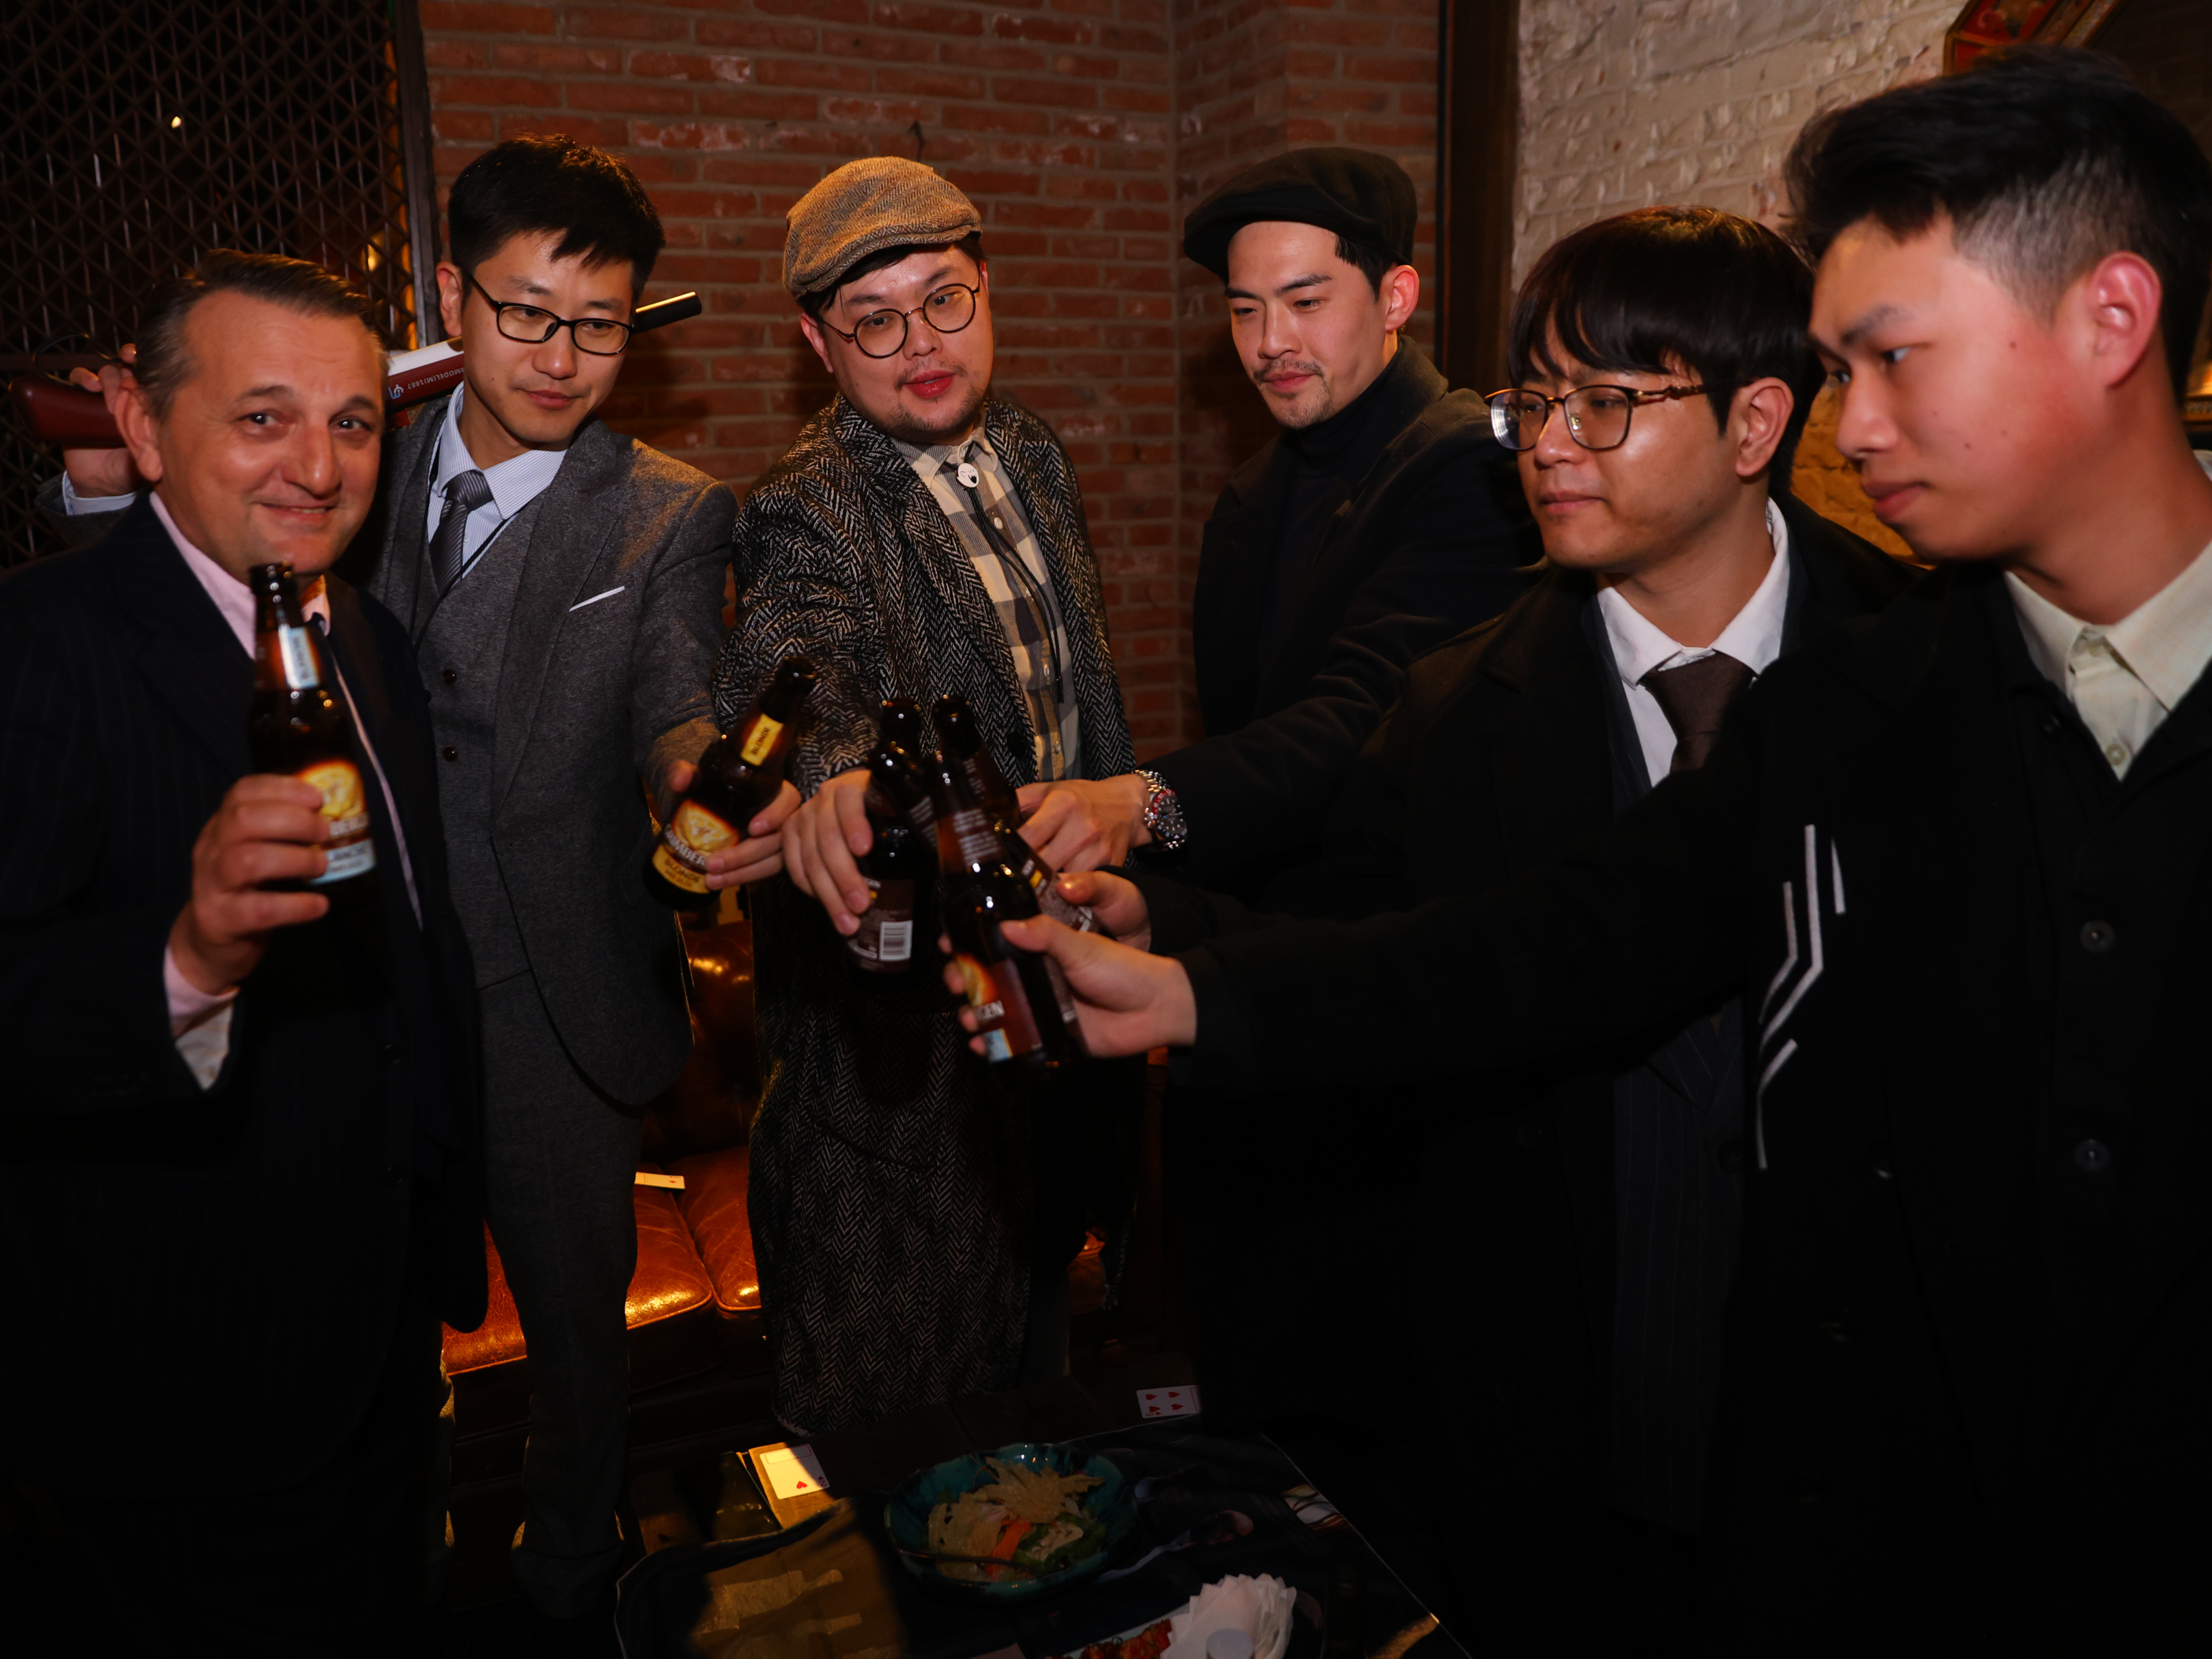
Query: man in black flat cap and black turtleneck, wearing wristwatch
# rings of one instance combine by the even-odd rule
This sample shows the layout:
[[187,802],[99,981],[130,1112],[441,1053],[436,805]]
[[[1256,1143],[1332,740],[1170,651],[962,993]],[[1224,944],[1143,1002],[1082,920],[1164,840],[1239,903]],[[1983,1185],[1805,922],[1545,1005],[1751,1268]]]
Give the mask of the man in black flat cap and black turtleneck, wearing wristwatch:
[[[1192,653],[1208,737],[1106,781],[1031,785],[1060,869],[1155,847],[1256,894],[1312,852],[1405,666],[1520,595],[1537,557],[1473,392],[1405,338],[1420,303],[1413,181],[1389,157],[1292,150],[1183,226],[1283,436],[1237,469],[1199,551]],[[1042,838],[1040,838],[1042,836]]]

